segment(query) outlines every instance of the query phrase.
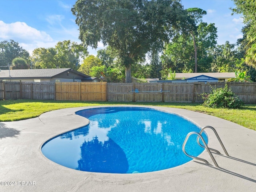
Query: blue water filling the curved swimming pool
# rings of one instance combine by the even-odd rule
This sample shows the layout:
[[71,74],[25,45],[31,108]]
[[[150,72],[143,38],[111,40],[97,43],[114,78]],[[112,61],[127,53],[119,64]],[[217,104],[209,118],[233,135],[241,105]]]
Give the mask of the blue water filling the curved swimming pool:
[[[142,173],[172,168],[192,160],[182,152],[182,144],[189,132],[200,132],[192,122],[152,108],[92,108],[76,114],[90,124],[48,140],[42,153],[82,171]],[[198,156],[203,150],[191,136],[188,154]]]

